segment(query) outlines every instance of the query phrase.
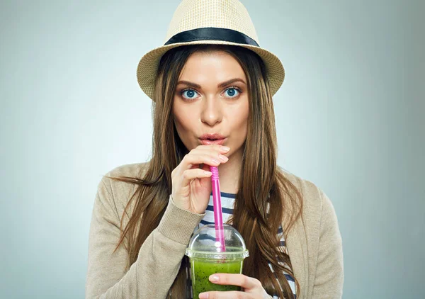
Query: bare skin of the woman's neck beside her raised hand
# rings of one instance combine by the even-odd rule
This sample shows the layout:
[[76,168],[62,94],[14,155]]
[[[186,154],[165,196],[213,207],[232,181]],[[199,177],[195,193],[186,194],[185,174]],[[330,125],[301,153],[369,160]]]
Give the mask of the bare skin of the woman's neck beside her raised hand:
[[218,173],[220,176],[220,191],[225,193],[237,193],[239,188],[239,176],[242,167],[242,153],[234,153],[229,161],[220,164]]

